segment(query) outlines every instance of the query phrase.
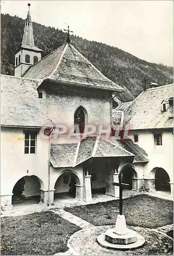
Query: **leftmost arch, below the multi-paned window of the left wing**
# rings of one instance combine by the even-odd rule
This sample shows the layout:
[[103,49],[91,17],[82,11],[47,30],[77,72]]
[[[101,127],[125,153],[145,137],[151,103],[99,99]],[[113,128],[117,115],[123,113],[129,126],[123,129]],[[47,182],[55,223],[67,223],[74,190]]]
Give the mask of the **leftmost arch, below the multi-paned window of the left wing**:
[[37,198],[40,202],[40,189],[44,189],[44,183],[36,175],[26,175],[18,179],[12,188],[12,203],[22,202],[25,199]]

